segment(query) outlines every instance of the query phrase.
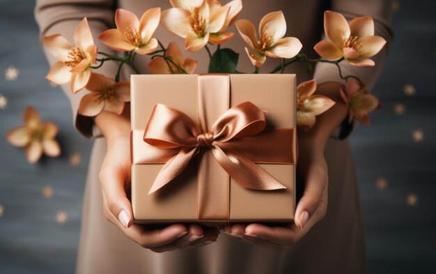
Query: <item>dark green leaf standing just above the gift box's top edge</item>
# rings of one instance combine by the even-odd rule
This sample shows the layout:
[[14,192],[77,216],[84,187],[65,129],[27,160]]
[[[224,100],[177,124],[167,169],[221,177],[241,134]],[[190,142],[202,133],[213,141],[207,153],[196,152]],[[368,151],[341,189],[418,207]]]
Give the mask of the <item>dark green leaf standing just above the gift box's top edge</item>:
[[219,49],[210,59],[209,73],[238,73],[239,54],[231,49]]

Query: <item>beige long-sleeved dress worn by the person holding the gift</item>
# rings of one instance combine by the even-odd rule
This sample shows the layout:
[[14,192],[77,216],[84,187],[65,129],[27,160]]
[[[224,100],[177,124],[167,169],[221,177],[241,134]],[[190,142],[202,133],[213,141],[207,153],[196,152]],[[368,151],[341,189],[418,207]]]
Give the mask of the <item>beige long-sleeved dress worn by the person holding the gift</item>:
[[[227,1],[224,0],[224,3]],[[324,0],[244,0],[244,9],[239,18],[246,18],[258,24],[266,13],[283,10],[288,31],[287,36],[295,36],[302,41],[303,52],[316,56],[312,50],[322,37],[323,10],[336,10],[348,20],[371,15],[375,20],[375,32],[383,36],[388,45],[392,39],[390,24],[391,1],[382,0],[332,0],[329,5]],[[72,41],[75,26],[83,17],[88,18],[95,42],[104,52],[112,52],[104,47],[97,36],[102,31],[114,27],[116,8],[132,10],[141,15],[148,8],[161,6],[170,8],[169,0],[40,0],[36,4],[36,20],[41,35],[62,33]],[[235,26],[231,28],[237,32]],[[167,45],[176,41],[182,48],[183,40],[159,27],[155,37]],[[252,71],[251,63],[244,52],[244,42],[236,33],[224,47],[240,52],[239,70]],[[371,89],[380,73],[387,47],[374,57],[374,68],[352,68],[344,65],[345,75],[358,75]],[[195,56],[199,61],[197,72],[206,72],[208,56],[205,50]],[[55,59],[47,54],[50,63]],[[148,73],[148,56],[137,56],[136,65],[141,73]],[[268,59],[261,72],[277,66],[279,60]],[[115,75],[116,65],[104,65],[100,73]],[[311,77],[318,83],[338,81],[337,70],[326,63],[316,67],[314,75],[308,75],[303,66],[287,68],[288,73],[297,73],[302,82]],[[125,71],[124,77],[128,77]],[[74,113],[74,124],[86,137],[99,137],[93,120],[77,114],[81,91],[75,96],[68,85],[63,86],[70,98]],[[155,253],[141,248],[131,241],[114,224],[104,219],[98,172],[104,158],[104,138],[94,141],[91,162],[88,169],[84,195],[84,212],[81,225],[81,241],[77,257],[77,273],[366,273],[364,233],[359,207],[359,192],[355,167],[348,141],[331,138],[325,151],[329,170],[329,204],[327,215],[316,224],[299,243],[285,251],[270,250],[256,245],[241,243],[221,234],[217,242],[203,248]]]

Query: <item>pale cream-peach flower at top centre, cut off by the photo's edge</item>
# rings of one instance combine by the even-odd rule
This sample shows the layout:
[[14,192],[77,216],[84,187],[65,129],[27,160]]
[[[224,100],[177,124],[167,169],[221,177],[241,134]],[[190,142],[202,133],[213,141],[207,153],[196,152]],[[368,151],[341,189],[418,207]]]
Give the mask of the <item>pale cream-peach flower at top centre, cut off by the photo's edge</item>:
[[226,23],[231,6],[222,6],[210,10],[205,0],[170,0],[173,8],[162,12],[162,25],[172,33],[185,38],[185,50],[197,52],[208,42],[221,44],[231,38],[213,36],[219,33]]

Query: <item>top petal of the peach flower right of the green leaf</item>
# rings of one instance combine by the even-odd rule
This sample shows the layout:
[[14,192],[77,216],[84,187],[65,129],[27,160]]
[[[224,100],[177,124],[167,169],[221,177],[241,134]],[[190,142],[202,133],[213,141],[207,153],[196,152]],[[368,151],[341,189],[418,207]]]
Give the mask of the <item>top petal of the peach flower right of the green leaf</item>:
[[285,15],[281,11],[275,11],[265,15],[259,24],[260,36],[267,34],[271,36],[271,45],[286,34]]

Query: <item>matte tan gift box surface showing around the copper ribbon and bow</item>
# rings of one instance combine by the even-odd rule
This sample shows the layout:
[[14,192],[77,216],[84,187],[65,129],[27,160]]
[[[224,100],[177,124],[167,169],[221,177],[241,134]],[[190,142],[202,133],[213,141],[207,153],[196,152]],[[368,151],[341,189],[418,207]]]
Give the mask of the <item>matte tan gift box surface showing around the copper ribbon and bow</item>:
[[[210,76],[210,75],[203,75]],[[218,75],[217,75],[218,76]],[[221,75],[228,77],[228,98],[223,101],[228,107],[242,102],[252,102],[265,112],[267,128],[295,128],[295,75]],[[198,121],[198,79],[202,75],[132,75],[132,207],[134,222],[142,224],[199,222],[210,225],[228,222],[292,222],[295,213],[295,161],[297,158],[296,134],[293,130],[291,149],[293,163],[258,163],[286,188],[280,190],[252,190],[243,188],[234,178],[228,177],[224,185],[227,220],[198,220],[198,168],[195,157],[185,170],[173,181],[148,194],[164,162],[138,163],[143,152],[143,134],[148,119],[156,104],[178,109]],[[212,83],[212,82],[211,82]],[[212,85],[212,84],[211,84]],[[214,89],[214,86],[207,86]],[[208,100],[205,107],[219,102]],[[212,98],[212,96],[211,96]],[[221,101],[221,98],[219,99]],[[226,102],[227,101],[227,102]],[[212,104],[212,105],[208,105]],[[139,142],[141,141],[141,142]],[[138,145],[139,144],[139,145]],[[267,146],[274,147],[274,143]],[[279,148],[280,149],[280,148]],[[204,168],[204,165],[203,165]],[[206,167],[207,168],[207,167]],[[215,174],[212,174],[215,176]],[[215,194],[208,193],[210,208],[221,206]],[[215,201],[214,201],[215,199]]]

